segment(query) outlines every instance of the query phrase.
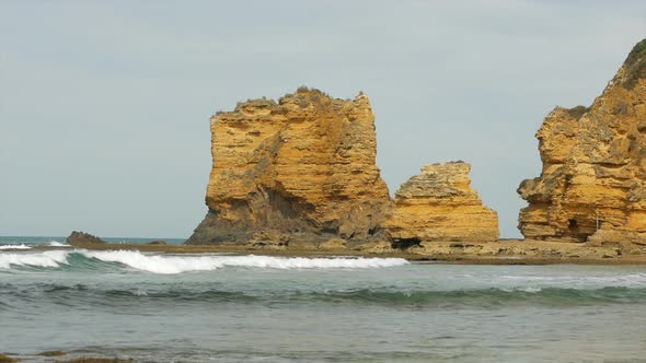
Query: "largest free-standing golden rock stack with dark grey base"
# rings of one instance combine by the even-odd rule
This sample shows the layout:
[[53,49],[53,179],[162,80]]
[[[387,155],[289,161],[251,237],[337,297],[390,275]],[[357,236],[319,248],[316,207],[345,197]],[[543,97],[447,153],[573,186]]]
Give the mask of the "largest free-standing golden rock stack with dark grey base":
[[368,97],[299,89],[211,117],[209,211],[187,244],[382,237],[390,206]]

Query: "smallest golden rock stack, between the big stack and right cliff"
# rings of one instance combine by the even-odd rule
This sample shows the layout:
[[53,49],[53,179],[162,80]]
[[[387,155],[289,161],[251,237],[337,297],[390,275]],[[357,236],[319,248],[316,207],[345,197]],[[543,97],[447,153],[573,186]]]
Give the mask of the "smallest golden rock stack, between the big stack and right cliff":
[[471,165],[430,164],[404,183],[384,224],[403,246],[423,241],[496,241],[498,215],[470,186]]

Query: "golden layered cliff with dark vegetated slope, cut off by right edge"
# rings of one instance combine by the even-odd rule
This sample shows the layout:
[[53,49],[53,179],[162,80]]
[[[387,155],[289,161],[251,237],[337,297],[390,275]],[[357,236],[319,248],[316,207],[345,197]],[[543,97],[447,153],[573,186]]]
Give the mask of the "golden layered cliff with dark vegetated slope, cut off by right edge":
[[589,108],[556,107],[537,133],[541,176],[522,182],[527,238],[646,239],[646,39]]

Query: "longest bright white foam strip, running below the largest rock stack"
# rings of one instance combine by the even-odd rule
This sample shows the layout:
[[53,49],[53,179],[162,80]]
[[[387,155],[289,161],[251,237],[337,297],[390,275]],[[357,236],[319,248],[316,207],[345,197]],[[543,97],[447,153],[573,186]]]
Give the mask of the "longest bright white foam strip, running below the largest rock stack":
[[81,251],[103,261],[119,262],[153,273],[209,271],[224,267],[270,269],[364,269],[407,265],[402,258],[286,258],[270,256],[162,256],[131,250]]

